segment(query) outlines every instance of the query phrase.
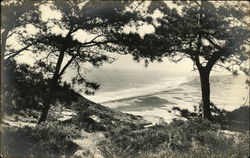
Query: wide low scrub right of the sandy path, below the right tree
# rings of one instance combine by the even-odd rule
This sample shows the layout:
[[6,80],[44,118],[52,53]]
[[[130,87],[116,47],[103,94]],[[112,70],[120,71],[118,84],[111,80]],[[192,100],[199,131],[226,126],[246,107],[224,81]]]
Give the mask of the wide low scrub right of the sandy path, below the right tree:
[[218,124],[202,120],[174,120],[137,131],[118,128],[109,141],[103,142],[103,153],[106,157],[209,157],[211,154],[244,157],[249,154],[249,136],[243,134],[237,143],[235,137],[219,129]]

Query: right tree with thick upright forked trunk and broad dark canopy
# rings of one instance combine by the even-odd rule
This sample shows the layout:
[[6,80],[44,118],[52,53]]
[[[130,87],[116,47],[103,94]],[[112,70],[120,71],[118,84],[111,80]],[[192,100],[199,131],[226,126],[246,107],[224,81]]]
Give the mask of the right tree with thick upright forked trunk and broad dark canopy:
[[[160,12],[154,19],[144,15],[143,20],[154,25],[155,32],[141,38],[136,33],[117,34],[119,42],[128,46],[136,60],[162,61],[170,57],[174,62],[190,58],[198,69],[202,92],[202,118],[212,119],[210,102],[210,72],[222,67],[237,73],[235,68],[248,59],[249,28],[248,4],[219,1],[173,2],[152,1],[148,13]],[[245,72],[248,69],[243,68]],[[249,71],[248,71],[249,72]]]

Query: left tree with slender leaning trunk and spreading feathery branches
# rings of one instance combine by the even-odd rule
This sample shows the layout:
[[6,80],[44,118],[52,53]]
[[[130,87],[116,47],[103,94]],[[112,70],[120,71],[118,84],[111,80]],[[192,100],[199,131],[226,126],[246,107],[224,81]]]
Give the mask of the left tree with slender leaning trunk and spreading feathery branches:
[[[82,69],[84,64],[101,66],[114,58],[108,52],[122,52],[111,38],[122,32],[122,27],[135,18],[135,13],[126,11],[131,2],[126,1],[53,1],[45,3],[61,15],[59,19],[40,21],[35,35],[19,33],[19,42],[31,45],[29,51],[37,54],[37,71],[43,71],[49,78],[43,109],[38,124],[47,118],[50,106],[60,93],[62,76],[71,68],[76,73],[71,85],[81,84],[87,94],[93,94],[99,87],[88,81]],[[53,28],[58,32],[53,32]],[[86,36],[84,38],[84,36]],[[81,39],[82,38],[82,39]],[[34,42],[35,41],[35,42]],[[14,56],[16,57],[16,56]]]

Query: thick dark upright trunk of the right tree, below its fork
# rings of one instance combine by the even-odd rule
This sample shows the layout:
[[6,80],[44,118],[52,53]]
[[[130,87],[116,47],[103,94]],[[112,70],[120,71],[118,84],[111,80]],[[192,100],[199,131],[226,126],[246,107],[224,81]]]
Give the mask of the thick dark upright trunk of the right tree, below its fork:
[[212,114],[210,109],[210,83],[209,74],[207,70],[202,70],[200,72],[200,82],[201,82],[201,93],[202,93],[202,119],[211,120]]

